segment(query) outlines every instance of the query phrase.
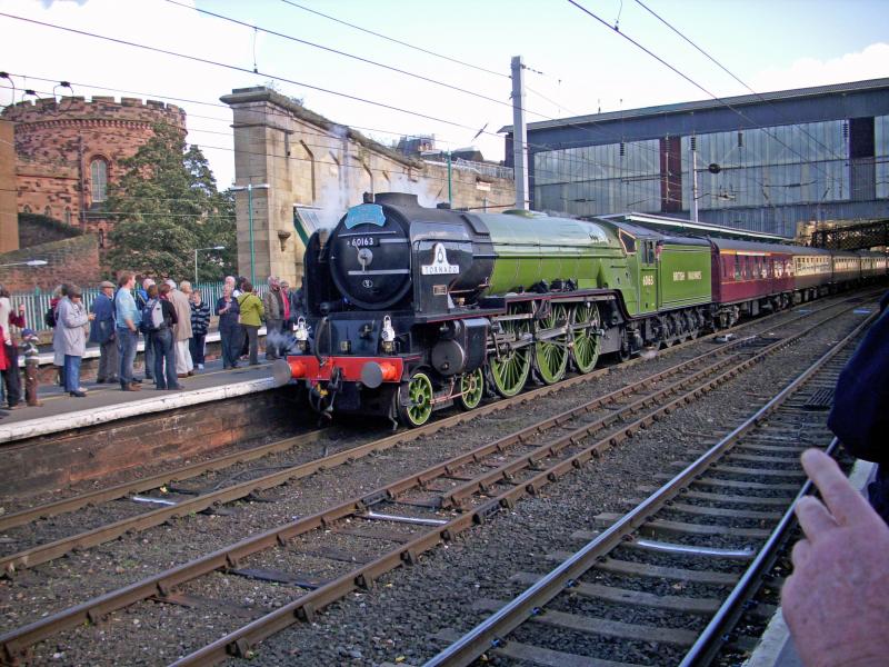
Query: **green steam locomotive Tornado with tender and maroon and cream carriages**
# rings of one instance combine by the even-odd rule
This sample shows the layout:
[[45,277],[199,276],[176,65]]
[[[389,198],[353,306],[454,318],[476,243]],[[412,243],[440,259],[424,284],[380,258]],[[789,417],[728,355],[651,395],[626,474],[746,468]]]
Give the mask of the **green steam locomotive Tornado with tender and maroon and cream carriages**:
[[307,317],[276,372],[319,412],[411,427],[529,378],[621,359],[885,275],[880,253],[678,237],[523,210],[471,213],[381,193],[316,232]]

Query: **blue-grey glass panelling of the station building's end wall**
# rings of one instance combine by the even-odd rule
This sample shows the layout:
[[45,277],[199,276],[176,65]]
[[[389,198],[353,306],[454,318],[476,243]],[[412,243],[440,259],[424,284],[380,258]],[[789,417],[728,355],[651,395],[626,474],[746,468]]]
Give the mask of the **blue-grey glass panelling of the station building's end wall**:
[[[698,208],[768,209],[855,199],[852,183],[861,177],[853,177],[851,135],[849,120],[698,135]],[[689,211],[691,155],[689,136],[536,152],[535,208],[575,216],[669,213],[680,209],[676,199],[681,191],[681,210]],[[876,198],[887,199],[889,116],[873,118],[872,155]]]

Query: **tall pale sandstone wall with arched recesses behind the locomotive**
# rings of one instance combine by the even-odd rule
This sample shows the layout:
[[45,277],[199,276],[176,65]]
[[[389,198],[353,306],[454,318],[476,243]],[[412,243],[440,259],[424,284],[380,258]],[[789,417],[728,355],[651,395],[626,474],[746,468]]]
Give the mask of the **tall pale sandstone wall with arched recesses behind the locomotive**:
[[[293,227],[293,205],[312,206],[334,223],[364,192],[411,192],[423,206],[448,201],[448,166],[407,158],[356,130],[339,126],[268,88],[221,98],[234,115],[234,179],[268,188],[236,201],[238,267],[251,273],[250,220],[257,280],[280,276],[299,285],[304,247]],[[496,166],[451,170],[455,208],[511,206],[515,183]],[[501,210],[496,208],[496,210]]]

